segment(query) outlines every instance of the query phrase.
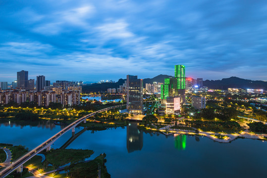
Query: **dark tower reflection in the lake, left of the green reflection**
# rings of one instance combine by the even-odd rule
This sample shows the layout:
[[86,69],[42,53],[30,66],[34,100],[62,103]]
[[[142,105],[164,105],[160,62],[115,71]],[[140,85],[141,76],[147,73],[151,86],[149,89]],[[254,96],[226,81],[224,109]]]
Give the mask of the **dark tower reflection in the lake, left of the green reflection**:
[[137,123],[129,123],[127,126],[127,150],[131,153],[141,150],[143,147],[143,132],[137,128]]

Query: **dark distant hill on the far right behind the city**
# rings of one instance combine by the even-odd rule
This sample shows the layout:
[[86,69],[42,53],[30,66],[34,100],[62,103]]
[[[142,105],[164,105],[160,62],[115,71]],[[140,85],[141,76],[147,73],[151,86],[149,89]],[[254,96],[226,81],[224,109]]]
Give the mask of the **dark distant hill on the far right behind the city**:
[[203,86],[206,86],[210,89],[241,88],[267,90],[267,82],[246,80],[238,77],[230,77],[222,80],[206,80],[203,81]]

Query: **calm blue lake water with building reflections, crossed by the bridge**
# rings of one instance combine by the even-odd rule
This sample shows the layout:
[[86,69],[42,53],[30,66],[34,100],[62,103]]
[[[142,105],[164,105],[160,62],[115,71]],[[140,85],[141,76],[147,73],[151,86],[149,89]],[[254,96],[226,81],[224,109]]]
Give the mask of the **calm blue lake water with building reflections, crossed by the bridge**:
[[[31,126],[5,122],[0,125],[0,142],[32,149],[61,128],[49,122]],[[59,148],[70,136],[69,131],[52,147]],[[262,140],[218,143],[207,137],[146,134],[130,123],[124,128],[86,131],[67,148],[94,150],[93,158],[105,152],[111,178],[267,177],[267,141]]]

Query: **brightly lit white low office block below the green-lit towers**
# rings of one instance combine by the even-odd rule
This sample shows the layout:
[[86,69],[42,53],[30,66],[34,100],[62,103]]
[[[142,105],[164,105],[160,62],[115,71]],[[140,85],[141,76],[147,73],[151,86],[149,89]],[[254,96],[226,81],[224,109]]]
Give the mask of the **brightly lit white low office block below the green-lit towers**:
[[167,97],[165,114],[178,115],[180,113],[180,97]]

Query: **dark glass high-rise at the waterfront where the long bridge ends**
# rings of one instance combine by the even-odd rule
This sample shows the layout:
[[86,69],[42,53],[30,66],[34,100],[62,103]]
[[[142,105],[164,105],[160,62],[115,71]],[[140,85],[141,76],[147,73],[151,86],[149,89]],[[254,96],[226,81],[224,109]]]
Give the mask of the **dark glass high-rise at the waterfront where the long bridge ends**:
[[127,109],[130,113],[142,114],[143,112],[143,80],[137,76],[127,75]]

